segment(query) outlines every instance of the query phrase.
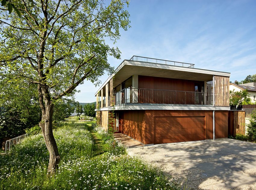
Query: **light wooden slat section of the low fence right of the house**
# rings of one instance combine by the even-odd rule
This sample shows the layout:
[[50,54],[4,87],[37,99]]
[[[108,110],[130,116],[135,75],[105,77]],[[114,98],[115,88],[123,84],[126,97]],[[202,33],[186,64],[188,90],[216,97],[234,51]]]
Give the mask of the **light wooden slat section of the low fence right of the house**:
[[245,111],[234,111],[234,136],[245,135]]

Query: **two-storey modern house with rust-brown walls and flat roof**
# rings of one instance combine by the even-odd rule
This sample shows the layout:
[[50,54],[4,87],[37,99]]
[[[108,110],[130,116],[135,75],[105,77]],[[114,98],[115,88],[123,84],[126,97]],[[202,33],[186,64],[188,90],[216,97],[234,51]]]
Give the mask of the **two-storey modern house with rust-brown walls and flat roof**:
[[95,93],[98,125],[147,145],[227,138],[229,76],[133,56]]

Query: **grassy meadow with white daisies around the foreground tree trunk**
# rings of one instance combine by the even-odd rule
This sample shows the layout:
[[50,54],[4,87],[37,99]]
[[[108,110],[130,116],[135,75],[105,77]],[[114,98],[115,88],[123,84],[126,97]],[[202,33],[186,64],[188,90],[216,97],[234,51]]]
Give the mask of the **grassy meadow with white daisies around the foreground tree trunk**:
[[61,155],[55,176],[46,174],[49,155],[41,134],[0,155],[0,189],[177,188],[157,168],[126,155],[113,135],[92,123],[62,122],[54,130]]

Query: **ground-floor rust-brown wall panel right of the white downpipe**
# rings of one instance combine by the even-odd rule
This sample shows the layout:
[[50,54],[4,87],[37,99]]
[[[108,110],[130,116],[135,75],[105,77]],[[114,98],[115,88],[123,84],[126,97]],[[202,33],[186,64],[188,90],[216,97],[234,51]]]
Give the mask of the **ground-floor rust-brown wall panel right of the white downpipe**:
[[215,138],[228,137],[228,111],[215,111]]

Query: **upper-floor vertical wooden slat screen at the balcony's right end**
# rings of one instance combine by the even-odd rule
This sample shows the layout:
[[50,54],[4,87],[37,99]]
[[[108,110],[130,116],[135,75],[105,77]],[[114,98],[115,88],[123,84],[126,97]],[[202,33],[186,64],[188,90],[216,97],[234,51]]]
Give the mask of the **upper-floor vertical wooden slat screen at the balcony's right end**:
[[214,105],[229,106],[229,77],[214,76]]

